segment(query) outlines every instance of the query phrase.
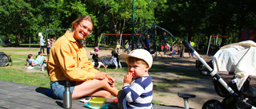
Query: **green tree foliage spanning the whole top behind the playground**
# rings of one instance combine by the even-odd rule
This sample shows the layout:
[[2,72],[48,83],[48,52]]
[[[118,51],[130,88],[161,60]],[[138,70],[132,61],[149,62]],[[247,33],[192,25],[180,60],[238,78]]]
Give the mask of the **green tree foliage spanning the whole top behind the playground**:
[[[242,29],[255,29],[254,0],[135,0],[136,29],[157,23],[180,39],[202,41],[210,35],[240,36]],[[67,29],[81,15],[95,22],[89,37],[97,44],[101,33],[132,33],[133,0],[2,0],[0,36],[20,42],[38,41],[46,29]],[[50,31],[50,37],[62,36]],[[4,40],[2,39],[2,40]],[[225,45],[226,39],[222,39]]]

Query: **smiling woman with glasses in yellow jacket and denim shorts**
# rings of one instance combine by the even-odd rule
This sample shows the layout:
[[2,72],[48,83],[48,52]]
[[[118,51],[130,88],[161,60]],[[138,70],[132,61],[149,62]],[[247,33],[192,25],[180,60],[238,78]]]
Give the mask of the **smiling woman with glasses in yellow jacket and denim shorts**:
[[94,21],[89,16],[78,18],[72,22],[72,31],[66,31],[50,49],[47,71],[51,81],[50,88],[57,99],[63,99],[66,80],[71,84],[72,99],[83,96],[111,98],[111,95],[118,95],[114,78],[94,69],[79,41],[90,35],[93,27]]

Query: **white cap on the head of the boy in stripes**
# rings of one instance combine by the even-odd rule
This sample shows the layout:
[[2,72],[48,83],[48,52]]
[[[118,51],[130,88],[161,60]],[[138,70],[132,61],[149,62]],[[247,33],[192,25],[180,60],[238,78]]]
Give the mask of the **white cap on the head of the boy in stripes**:
[[131,57],[136,57],[141,60],[145,60],[147,64],[149,64],[149,67],[151,68],[152,63],[153,63],[153,57],[151,54],[146,51],[145,49],[134,49],[131,51],[129,54],[121,54],[120,55],[123,59],[126,59],[131,56]]

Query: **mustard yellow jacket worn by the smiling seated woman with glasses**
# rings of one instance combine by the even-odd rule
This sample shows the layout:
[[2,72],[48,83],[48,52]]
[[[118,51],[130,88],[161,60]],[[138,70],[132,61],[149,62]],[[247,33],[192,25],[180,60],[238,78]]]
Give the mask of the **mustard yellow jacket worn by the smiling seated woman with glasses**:
[[50,49],[47,64],[50,81],[86,81],[94,79],[98,70],[86,57],[86,49],[76,41],[70,31],[59,37]]

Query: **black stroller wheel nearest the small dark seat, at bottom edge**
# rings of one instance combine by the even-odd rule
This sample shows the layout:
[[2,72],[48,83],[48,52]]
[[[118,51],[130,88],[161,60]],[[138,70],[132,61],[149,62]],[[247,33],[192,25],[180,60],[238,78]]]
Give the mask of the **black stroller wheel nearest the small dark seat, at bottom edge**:
[[210,99],[202,105],[202,109],[221,109],[221,102],[216,99]]

